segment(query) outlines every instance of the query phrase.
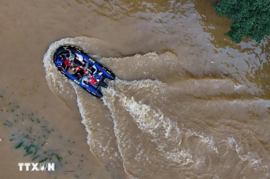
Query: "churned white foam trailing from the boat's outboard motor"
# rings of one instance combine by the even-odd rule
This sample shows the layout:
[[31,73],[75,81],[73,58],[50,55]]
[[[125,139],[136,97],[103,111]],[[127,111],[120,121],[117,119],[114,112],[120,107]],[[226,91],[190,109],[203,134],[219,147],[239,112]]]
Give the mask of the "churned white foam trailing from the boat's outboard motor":
[[[149,79],[141,81],[121,81],[116,79],[110,83],[111,84],[107,89],[102,89],[102,92],[104,94],[104,104],[109,107],[113,118],[115,118],[115,106],[113,105],[113,100],[115,100],[115,98],[120,98],[119,102],[121,103],[121,106],[124,107],[124,109],[133,117],[133,120],[138,125],[138,128],[141,129],[143,133],[150,136],[150,140],[155,142],[157,145],[157,150],[162,151],[163,156],[166,159],[179,164],[181,163],[182,165],[194,163],[190,152],[184,149],[184,146],[181,146],[181,134],[185,131],[188,136],[194,135],[199,137],[201,142],[207,143],[209,148],[213,149],[218,154],[218,149],[216,146],[214,146],[212,136],[206,136],[204,133],[197,133],[186,128],[179,129],[177,126],[178,124],[164,116],[160,109],[153,109],[151,106],[143,104],[141,101],[136,102],[134,97],[128,98],[124,95],[126,88],[133,89],[134,87],[136,89],[140,89],[151,87],[152,89],[156,86],[160,87],[160,85],[164,85],[164,83],[158,80],[153,81]],[[125,89],[121,89],[121,85],[123,84],[126,85]],[[116,91],[114,89],[114,85],[121,87],[117,88]],[[158,88],[158,90],[161,89],[162,88]],[[110,98],[107,96],[107,94],[110,95]],[[118,130],[116,126],[115,130]]]

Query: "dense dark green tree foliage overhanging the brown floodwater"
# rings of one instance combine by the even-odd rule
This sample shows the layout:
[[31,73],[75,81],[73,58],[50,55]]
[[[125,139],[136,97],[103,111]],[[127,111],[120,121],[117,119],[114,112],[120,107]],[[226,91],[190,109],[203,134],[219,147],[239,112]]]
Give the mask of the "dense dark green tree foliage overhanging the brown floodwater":
[[234,21],[225,35],[236,43],[242,37],[260,43],[265,35],[270,35],[270,0],[218,0],[214,9],[217,16],[227,15]]

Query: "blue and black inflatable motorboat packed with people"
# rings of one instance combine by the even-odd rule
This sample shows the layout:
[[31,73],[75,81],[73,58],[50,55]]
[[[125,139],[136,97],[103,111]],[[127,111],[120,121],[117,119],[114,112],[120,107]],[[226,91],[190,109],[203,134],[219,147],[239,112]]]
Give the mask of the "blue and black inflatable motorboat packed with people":
[[65,45],[55,50],[53,57],[56,68],[71,81],[97,98],[102,97],[100,87],[107,88],[106,79],[114,80],[110,69],[86,54],[82,49]]

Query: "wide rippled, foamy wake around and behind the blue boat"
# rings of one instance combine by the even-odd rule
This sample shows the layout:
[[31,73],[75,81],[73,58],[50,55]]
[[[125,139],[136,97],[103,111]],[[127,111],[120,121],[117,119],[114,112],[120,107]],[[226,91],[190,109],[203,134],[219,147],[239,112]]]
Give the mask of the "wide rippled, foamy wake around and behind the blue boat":
[[[170,53],[98,58],[118,78],[93,98],[54,68],[65,44],[92,49],[87,37],[53,43],[44,55],[50,89],[77,99],[90,151],[114,178],[270,177],[270,102],[229,79],[192,78]],[[95,45],[91,45],[95,46]],[[97,49],[91,53],[98,54]],[[87,51],[89,53],[89,51]],[[95,53],[97,52],[97,53]],[[119,78],[123,79],[120,80]]]

